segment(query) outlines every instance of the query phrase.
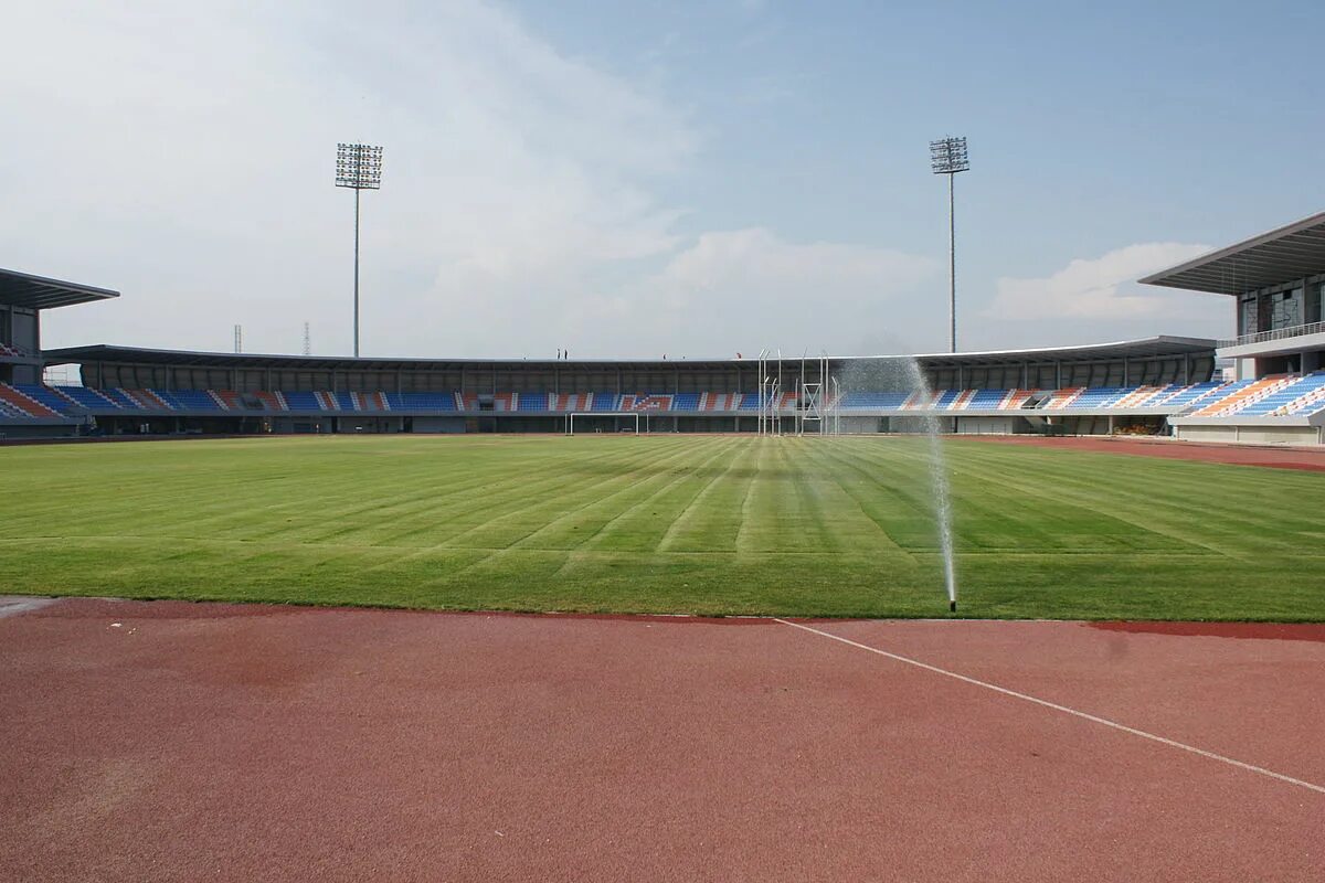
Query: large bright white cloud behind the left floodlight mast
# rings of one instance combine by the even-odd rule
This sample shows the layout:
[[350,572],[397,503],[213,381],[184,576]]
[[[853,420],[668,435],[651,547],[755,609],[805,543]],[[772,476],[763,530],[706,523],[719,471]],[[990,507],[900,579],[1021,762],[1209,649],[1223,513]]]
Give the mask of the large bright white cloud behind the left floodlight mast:
[[[664,259],[653,183],[685,114],[477,0],[23,4],[0,54],[4,263],[123,290],[50,346],[350,348],[338,140],[386,146],[363,196],[370,353],[519,351],[604,266]],[[58,46],[58,52],[52,52]],[[645,269],[647,271],[647,269]],[[554,348],[549,342],[547,349]]]

